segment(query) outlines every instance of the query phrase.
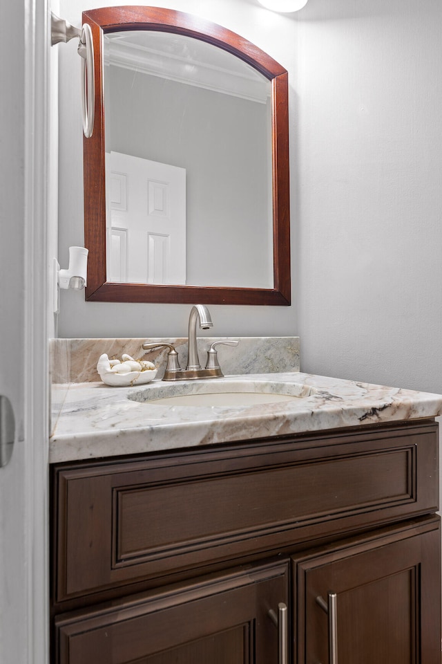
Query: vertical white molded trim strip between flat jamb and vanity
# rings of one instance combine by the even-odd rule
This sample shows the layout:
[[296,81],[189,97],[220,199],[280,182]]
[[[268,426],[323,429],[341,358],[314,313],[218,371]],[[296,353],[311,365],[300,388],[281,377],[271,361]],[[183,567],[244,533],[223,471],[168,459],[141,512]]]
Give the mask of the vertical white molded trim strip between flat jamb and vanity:
[[49,662],[47,0],[25,1],[24,446],[27,664]]

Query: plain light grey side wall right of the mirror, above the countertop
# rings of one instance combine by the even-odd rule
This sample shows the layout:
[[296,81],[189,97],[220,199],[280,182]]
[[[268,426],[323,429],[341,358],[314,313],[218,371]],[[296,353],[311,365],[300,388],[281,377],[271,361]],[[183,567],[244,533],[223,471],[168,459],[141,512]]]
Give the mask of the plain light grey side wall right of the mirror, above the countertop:
[[442,391],[442,3],[307,7],[291,72],[302,367]]

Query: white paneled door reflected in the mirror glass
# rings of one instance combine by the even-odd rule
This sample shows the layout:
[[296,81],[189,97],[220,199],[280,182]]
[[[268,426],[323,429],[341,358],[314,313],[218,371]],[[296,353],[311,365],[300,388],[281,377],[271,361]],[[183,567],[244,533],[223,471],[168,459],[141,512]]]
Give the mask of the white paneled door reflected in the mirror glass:
[[186,284],[186,169],[106,154],[109,281]]

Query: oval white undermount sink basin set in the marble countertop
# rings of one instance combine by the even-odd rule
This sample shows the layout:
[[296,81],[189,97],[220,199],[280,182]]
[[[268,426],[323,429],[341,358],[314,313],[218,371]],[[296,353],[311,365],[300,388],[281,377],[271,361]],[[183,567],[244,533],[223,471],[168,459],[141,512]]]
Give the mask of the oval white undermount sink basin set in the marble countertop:
[[191,407],[247,407],[293,401],[313,394],[314,388],[296,382],[269,380],[205,380],[162,383],[128,394],[150,405]]

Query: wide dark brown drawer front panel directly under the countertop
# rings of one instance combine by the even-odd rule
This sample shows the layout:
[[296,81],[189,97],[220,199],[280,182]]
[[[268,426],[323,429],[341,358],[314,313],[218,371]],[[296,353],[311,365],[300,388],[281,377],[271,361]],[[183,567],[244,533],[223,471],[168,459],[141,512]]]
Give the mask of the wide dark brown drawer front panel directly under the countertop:
[[436,509],[436,425],[56,472],[57,600]]

